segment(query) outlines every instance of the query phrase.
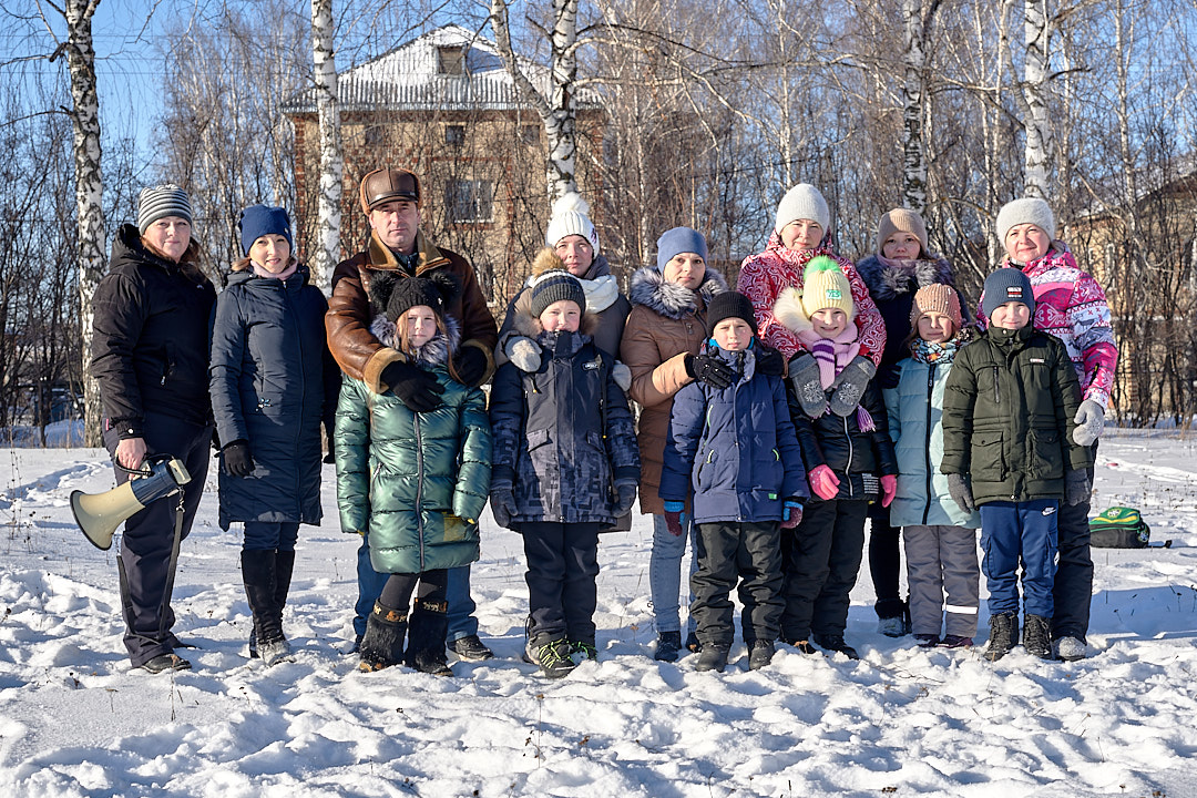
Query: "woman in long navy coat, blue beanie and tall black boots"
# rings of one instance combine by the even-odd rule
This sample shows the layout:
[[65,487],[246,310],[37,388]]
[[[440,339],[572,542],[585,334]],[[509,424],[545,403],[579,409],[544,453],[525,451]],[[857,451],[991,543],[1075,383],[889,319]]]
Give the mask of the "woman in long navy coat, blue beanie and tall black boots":
[[217,298],[211,392],[224,444],[220,526],[244,522],[242,577],[254,615],[250,657],[290,657],[282,607],[299,524],[318,524],[320,424],[336,408],[339,370],[324,340],[328,303],[291,256],[282,208],[242,212],[242,251]]

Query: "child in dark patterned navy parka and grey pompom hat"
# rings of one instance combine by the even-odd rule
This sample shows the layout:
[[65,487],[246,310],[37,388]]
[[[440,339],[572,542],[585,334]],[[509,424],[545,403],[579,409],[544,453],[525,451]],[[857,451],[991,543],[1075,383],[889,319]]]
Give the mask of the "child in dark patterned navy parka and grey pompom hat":
[[523,536],[528,559],[524,658],[549,678],[595,659],[598,531],[636,501],[640,455],[627,397],[591,340],[582,284],[552,250],[516,329],[536,363],[504,364],[491,390],[491,512]]

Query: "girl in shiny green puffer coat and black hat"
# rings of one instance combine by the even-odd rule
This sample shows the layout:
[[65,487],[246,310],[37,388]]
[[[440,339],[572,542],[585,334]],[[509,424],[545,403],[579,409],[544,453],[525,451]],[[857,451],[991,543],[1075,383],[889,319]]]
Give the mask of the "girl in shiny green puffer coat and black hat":
[[390,574],[366,621],[363,670],[406,659],[418,670],[451,675],[444,648],[448,569],[478,560],[478,517],[491,483],[486,398],[457,382],[452,370],[460,335],[444,309],[456,290],[455,281],[438,276],[402,278],[370,291],[376,307],[385,307],[371,330],[436,377],[440,407],[414,413],[389,389],[375,394],[347,376],[341,388],[341,528],[367,534],[375,571]]

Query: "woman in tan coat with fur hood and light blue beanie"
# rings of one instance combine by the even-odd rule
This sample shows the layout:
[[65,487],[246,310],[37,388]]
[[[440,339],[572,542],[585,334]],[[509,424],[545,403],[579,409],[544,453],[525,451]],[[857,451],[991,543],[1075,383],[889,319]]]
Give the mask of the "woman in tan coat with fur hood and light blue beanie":
[[[652,514],[649,589],[657,627],[656,658],[666,662],[674,662],[681,652],[681,560],[686,538],[693,535],[688,517],[682,535],[669,532],[657,495],[669,413],[674,395],[694,382],[695,374],[717,380],[727,370],[698,354],[706,337],[706,307],[715,294],[727,290],[727,281],[706,268],[701,233],[674,227],[657,240],[657,267],[637,270],[628,292],[632,312],[624,325],[620,359],[632,371],[628,395],[640,404],[640,512]],[[722,376],[730,383],[730,373]],[[691,571],[693,562],[692,556]]]

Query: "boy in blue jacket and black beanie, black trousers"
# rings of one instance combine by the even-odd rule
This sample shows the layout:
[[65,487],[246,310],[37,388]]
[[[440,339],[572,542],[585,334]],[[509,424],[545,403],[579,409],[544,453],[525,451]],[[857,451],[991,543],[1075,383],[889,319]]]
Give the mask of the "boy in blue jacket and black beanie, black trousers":
[[[782,529],[802,519],[809,495],[780,377],[755,372],[752,303],[728,292],[707,310],[710,341],[674,400],[661,498],[670,531],[693,487],[698,572],[691,578],[701,654],[697,670],[722,671],[735,635],[731,589],[740,583],[748,668],[773,658],[782,615]],[[721,365],[723,367],[721,367]],[[730,366],[731,379],[718,379]]]

